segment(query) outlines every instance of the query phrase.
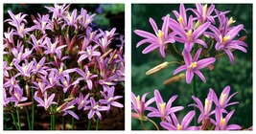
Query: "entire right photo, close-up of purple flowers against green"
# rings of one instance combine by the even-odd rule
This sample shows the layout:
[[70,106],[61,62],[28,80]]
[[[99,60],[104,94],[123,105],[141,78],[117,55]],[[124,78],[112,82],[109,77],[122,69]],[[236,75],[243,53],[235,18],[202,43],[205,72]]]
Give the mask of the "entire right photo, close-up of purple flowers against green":
[[252,130],[252,4],[132,4],[131,129]]

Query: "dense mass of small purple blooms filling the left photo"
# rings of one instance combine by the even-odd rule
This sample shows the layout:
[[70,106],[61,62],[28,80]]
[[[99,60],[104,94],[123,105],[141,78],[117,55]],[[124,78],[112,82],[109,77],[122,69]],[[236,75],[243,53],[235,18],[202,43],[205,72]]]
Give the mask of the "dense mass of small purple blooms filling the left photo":
[[8,11],[5,111],[36,105],[51,115],[70,114],[79,120],[76,111],[83,110],[88,119],[97,115],[102,120],[101,114],[111,106],[124,107],[119,102],[123,96],[115,93],[116,85],[125,80],[124,50],[110,48],[116,29],[93,30],[95,14],[84,9],[71,13],[69,6],[45,7],[50,13],[32,16],[33,26],[27,25],[28,14]]

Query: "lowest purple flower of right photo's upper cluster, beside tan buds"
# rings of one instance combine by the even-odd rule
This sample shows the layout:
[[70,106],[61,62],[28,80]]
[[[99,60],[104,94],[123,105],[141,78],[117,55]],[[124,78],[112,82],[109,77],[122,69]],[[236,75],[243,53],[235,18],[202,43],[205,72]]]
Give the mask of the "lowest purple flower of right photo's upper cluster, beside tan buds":
[[215,58],[214,57],[208,57],[208,58],[198,60],[198,57],[200,56],[200,53],[201,53],[201,48],[198,49],[198,52],[196,53],[196,55],[192,59],[191,54],[186,49],[184,49],[183,52],[182,52],[182,55],[184,56],[185,65],[182,65],[182,66],[178,67],[175,70],[174,75],[176,75],[180,71],[187,70],[186,71],[186,81],[187,81],[187,83],[191,82],[192,78],[194,77],[194,73],[196,73],[198,75],[198,77],[201,78],[201,80],[205,82],[206,79],[203,77],[203,75],[201,74],[199,69],[202,69],[202,68],[214,63]]

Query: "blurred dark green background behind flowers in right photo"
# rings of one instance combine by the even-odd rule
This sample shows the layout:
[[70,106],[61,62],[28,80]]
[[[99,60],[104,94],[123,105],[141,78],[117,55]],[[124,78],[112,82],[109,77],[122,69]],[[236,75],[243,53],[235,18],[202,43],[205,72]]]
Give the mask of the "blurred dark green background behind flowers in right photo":
[[[209,5],[208,5],[209,6]],[[220,97],[222,89],[226,85],[231,86],[230,94],[234,92],[239,92],[235,97],[231,99],[232,101],[239,101],[237,105],[227,107],[228,111],[235,109],[235,113],[229,124],[237,123],[247,128],[252,125],[252,4],[216,4],[216,9],[219,11],[231,11],[226,16],[233,17],[236,23],[233,25],[244,24],[244,29],[247,31],[245,33],[242,31],[240,35],[246,35],[246,44],[248,45],[247,53],[244,54],[240,51],[234,51],[236,64],[233,66],[228,58],[224,55],[218,58],[214,63],[214,70],[209,71],[207,69],[202,69],[201,72],[206,78],[207,82],[202,82],[197,76],[197,91],[196,97],[204,103],[204,99],[207,96],[209,88],[213,88],[217,96]],[[174,57],[167,55],[164,59],[159,54],[159,50],[155,50],[150,54],[142,55],[142,51],[148,45],[142,45],[136,48],[136,44],[143,39],[142,37],[133,33],[134,30],[143,30],[151,32],[151,24],[149,18],[153,18],[158,28],[162,27],[161,18],[166,14],[170,14],[171,17],[175,18],[172,11],[179,11],[178,4],[133,4],[132,5],[132,17],[131,17],[131,88],[132,92],[137,95],[143,95],[146,92],[151,94],[148,99],[153,97],[154,89],[159,89],[163,100],[169,101],[169,99],[178,95],[177,100],[173,105],[182,105],[184,110],[177,112],[176,115],[181,121],[181,119],[189,112],[193,110],[193,107],[188,107],[187,105],[193,103],[191,99],[191,85],[185,82],[185,79],[177,81],[173,84],[163,85],[164,80],[173,77],[173,72],[178,67],[175,64],[171,64],[167,69],[155,73],[151,76],[146,76],[145,73],[152,67],[164,62],[175,60]],[[196,5],[185,4],[185,8],[194,8]],[[191,11],[189,11],[191,12]],[[198,110],[198,109],[197,109]],[[133,111],[132,111],[133,112]],[[197,111],[198,113],[198,111]],[[146,114],[147,115],[147,114]],[[159,124],[157,118],[152,118]],[[138,120],[131,120],[133,130],[143,129],[142,125]],[[159,124],[160,125],[160,124]],[[155,129],[151,123],[146,123],[148,129]]]

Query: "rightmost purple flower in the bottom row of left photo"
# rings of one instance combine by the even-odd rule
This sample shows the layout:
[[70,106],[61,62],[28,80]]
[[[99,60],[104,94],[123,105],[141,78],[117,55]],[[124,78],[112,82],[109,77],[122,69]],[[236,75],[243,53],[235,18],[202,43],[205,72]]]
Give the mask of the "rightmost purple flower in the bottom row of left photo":
[[105,95],[105,92],[101,91],[102,96],[104,97],[104,100],[100,100],[101,103],[103,104],[107,104],[107,107],[109,107],[110,109],[110,105],[115,106],[115,107],[124,107],[123,104],[117,102],[116,100],[123,98],[122,96],[115,96],[114,97],[114,93],[115,93],[115,87],[108,87],[107,90],[107,95]]

